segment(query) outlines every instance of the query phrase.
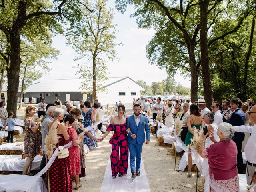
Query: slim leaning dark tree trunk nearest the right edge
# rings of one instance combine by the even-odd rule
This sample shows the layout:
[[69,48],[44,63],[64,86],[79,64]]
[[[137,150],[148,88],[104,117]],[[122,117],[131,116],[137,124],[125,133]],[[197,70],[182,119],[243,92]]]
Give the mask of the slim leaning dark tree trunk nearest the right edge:
[[248,50],[248,53],[246,55],[245,64],[244,64],[244,88],[243,88],[244,92],[243,92],[243,95],[242,95],[242,101],[246,100],[246,94],[247,94],[248,63],[249,63],[250,55],[251,55],[251,52],[252,52],[252,40],[253,40],[254,27],[255,27],[255,18],[252,19],[250,45],[249,45],[249,50]]

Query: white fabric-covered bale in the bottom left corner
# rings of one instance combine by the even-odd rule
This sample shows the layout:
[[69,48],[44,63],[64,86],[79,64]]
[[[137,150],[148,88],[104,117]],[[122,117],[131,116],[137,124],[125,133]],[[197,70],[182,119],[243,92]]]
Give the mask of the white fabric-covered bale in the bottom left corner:
[[[24,185],[24,180],[32,180],[32,178],[28,175],[0,175],[0,191],[23,192],[24,190],[18,190],[18,188]],[[24,188],[26,187],[24,186]],[[44,180],[39,178],[36,181],[32,181],[30,188],[26,189],[26,192],[47,192]]]

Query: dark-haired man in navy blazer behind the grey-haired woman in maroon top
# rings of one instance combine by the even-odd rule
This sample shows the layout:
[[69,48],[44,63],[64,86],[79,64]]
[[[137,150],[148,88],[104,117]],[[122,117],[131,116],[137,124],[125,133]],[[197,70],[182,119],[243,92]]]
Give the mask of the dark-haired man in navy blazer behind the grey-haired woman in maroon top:
[[[240,126],[245,124],[245,113],[240,109],[242,106],[242,101],[239,98],[233,98],[231,100],[231,109],[234,112],[231,114],[226,114],[226,120],[232,126]],[[232,139],[236,143],[237,147],[237,169],[239,174],[243,174],[243,156],[242,156],[242,142],[244,140],[244,133],[235,132],[234,138]]]

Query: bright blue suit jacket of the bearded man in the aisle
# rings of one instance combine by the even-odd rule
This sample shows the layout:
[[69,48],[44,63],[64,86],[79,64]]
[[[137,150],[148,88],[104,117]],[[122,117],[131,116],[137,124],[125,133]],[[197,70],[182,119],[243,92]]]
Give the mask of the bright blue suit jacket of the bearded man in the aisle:
[[[147,140],[150,140],[150,129],[148,127],[148,118],[143,115],[140,115],[140,122],[138,126],[136,125],[134,115],[128,117],[127,120],[127,128],[131,129],[131,132],[128,133],[128,143],[135,144],[142,144],[145,142],[145,130],[146,130],[146,137]],[[133,139],[131,136],[135,134],[137,137]]]

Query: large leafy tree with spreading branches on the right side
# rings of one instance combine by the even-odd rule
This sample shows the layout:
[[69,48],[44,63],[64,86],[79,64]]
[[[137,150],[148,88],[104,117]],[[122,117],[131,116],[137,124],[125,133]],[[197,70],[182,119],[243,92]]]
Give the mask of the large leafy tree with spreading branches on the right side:
[[[231,5],[230,5],[231,4]],[[237,8],[237,4],[240,4]],[[134,5],[136,12],[132,16],[137,17],[138,27],[156,30],[156,34],[147,46],[148,57],[152,64],[166,67],[170,72],[175,73],[177,68],[190,72],[191,77],[191,98],[197,100],[198,76],[200,75],[201,56],[198,48],[200,42],[198,33],[201,28],[201,17],[198,1],[160,1],[160,0],[116,0],[118,10],[124,12],[128,5]],[[210,0],[207,14],[208,48],[214,42],[236,32],[243,20],[256,8],[251,1],[224,1]],[[233,10],[232,10],[233,9]],[[218,27],[234,10],[236,15],[231,20],[236,24],[230,25],[226,20],[225,32],[219,31]],[[211,30],[209,30],[211,29]],[[218,33],[216,32],[218,30]],[[153,57],[152,57],[153,56]],[[154,57],[155,56],[155,57]],[[182,58],[182,60],[179,59]],[[157,59],[155,59],[157,58]],[[189,64],[189,65],[188,65]],[[188,74],[186,74],[188,75]],[[207,82],[206,82],[207,84]],[[211,100],[211,98],[210,98]]]

